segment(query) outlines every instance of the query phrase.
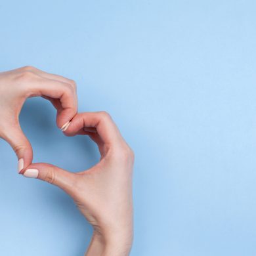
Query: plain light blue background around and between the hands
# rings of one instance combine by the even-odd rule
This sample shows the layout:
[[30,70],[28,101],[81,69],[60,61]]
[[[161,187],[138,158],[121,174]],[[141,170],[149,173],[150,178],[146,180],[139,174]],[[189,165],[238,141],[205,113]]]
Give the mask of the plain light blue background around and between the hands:
[[[1,1],[0,70],[74,79],[79,111],[110,112],[135,150],[131,255],[256,255],[255,13],[253,0]],[[98,161],[49,102],[28,100],[20,121],[34,161]],[[0,255],[83,255],[92,229],[72,200],[0,152]]]

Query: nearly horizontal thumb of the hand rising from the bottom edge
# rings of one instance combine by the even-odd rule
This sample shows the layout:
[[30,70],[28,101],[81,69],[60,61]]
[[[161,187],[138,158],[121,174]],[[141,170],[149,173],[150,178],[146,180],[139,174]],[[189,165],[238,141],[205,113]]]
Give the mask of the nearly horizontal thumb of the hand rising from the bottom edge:
[[27,178],[36,178],[54,184],[68,194],[72,194],[74,191],[75,173],[70,173],[49,163],[32,163],[21,174]]

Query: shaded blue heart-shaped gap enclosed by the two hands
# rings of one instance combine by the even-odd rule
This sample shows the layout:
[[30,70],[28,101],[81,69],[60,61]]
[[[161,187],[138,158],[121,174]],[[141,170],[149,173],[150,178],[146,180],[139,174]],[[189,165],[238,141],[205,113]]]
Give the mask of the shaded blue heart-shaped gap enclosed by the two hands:
[[[22,108],[20,125],[33,148],[40,148],[40,161],[50,157],[61,165],[63,159],[70,160],[72,163],[66,165],[69,171],[83,171],[94,165],[99,160],[96,144],[87,136],[65,137],[56,127],[55,119],[53,106],[43,98],[30,98]],[[58,150],[49,156],[49,149],[54,147]],[[36,151],[35,156],[38,156]],[[83,165],[79,164],[81,160],[85,161]]]

